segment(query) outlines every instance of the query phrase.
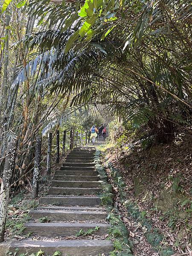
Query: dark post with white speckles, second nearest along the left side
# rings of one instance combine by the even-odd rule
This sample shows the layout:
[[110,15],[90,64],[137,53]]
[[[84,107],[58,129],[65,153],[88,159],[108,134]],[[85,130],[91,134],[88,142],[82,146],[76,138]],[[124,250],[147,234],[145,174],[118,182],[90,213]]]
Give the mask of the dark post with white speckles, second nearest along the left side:
[[36,139],[36,145],[35,145],[35,162],[34,162],[34,171],[33,171],[32,199],[35,199],[38,197],[40,157],[41,157],[41,138],[38,136]]

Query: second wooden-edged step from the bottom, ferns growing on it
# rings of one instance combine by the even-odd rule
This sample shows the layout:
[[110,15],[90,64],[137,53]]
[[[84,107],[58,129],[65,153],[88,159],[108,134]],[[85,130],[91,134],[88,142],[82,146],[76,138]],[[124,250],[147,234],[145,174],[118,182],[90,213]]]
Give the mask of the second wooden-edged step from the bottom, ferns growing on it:
[[23,234],[29,232],[37,236],[55,237],[55,236],[75,236],[79,230],[87,231],[88,229],[94,229],[99,227],[94,232],[97,235],[103,235],[108,233],[108,229],[111,227],[110,224],[105,223],[26,223]]

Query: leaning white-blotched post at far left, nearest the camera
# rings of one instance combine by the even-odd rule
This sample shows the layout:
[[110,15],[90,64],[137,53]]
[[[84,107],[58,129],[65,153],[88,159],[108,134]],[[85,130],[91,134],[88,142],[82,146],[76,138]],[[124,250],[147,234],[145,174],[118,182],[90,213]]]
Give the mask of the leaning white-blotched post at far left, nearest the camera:
[[6,154],[8,154],[8,156],[5,160],[3,180],[0,189],[0,243],[4,241],[7,209],[11,191],[10,185],[15,167],[15,143],[9,142],[7,144]]

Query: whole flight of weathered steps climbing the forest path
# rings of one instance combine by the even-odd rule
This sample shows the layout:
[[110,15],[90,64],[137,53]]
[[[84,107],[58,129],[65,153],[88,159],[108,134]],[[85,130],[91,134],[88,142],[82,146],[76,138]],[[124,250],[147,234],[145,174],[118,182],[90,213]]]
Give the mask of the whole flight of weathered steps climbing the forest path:
[[[68,154],[66,163],[55,172],[47,196],[40,198],[37,209],[30,211],[30,221],[24,234],[28,239],[12,242],[9,248],[19,253],[46,255],[60,251],[62,256],[107,256],[113,250],[108,236],[110,224],[105,220],[107,211],[99,206],[99,177],[93,163],[95,148],[75,148]],[[42,223],[45,218],[49,222]],[[93,229],[93,236],[77,239],[80,230]]]

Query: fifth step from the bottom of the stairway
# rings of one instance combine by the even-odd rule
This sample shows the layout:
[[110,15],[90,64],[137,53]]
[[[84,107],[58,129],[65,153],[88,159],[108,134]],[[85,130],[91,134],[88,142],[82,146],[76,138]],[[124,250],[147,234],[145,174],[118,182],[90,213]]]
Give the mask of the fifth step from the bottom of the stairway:
[[51,187],[49,195],[96,195],[101,192],[101,189],[95,188],[59,188]]

